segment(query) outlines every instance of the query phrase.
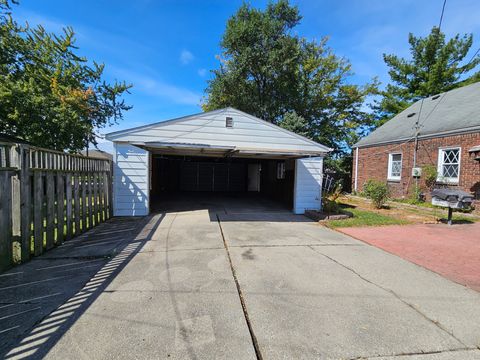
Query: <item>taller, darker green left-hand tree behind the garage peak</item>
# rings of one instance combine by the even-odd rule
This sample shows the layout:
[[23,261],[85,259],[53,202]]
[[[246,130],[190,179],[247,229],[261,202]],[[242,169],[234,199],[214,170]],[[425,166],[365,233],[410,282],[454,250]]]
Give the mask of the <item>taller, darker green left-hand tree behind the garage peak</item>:
[[298,9],[287,1],[270,3],[264,12],[243,4],[227,22],[205,110],[230,104],[277,122],[294,86],[298,39],[289,32],[299,21]]

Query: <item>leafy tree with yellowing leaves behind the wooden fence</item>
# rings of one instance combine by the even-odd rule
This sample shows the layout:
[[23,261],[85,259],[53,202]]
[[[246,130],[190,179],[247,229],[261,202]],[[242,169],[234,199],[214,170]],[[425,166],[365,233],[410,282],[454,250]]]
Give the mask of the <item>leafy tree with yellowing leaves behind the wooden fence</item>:
[[18,25],[1,0],[0,132],[33,145],[68,150],[96,145],[96,131],[131,107],[130,85],[103,80],[104,65],[76,54],[74,32]]

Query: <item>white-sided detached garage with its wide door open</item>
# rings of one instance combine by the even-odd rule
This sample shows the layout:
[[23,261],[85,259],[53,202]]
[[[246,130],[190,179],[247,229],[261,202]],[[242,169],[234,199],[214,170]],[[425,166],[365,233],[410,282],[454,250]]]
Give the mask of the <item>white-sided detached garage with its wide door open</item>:
[[233,108],[106,138],[115,148],[115,216],[147,215],[164,199],[199,193],[265,197],[296,214],[321,208],[323,157],[331,149]]

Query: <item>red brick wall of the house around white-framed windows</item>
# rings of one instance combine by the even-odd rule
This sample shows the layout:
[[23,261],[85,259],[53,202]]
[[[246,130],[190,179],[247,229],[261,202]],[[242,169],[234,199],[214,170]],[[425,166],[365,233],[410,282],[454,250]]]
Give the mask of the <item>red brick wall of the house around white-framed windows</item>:
[[[456,188],[480,195],[480,162],[474,160],[474,154],[468,152],[474,146],[480,145],[480,132],[419,140],[417,152],[417,166],[433,165],[437,167],[438,149],[442,147],[461,147],[460,179]],[[402,153],[402,176],[400,181],[388,181],[392,195],[407,197],[415,179],[411,176],[413,167],[414,142],[406,144],[390,144],[360,148],[358,153],[357,190],[362,191],[363,184],[369,179],[387,181],[388,154]],[[357,151],[357,150],[355,150]],[[353,154],[352,188],[355,189],[355,159]],[[423,186],[423,179],[419,184]]]

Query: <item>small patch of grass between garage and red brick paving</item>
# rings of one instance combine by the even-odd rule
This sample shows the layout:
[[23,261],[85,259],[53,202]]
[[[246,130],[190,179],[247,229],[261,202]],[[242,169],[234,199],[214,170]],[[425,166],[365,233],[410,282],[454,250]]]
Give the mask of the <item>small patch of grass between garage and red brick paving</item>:
[[410,222],[403,219],[394,218],[378,214],[374,211],[361,210],[353,207],[342,206],[348,212],[353,214],[352,218],[343,220],[330,220],[325,225],[330,228],[357,227],[357,226],[380,226],[380,225],[405,225]]

